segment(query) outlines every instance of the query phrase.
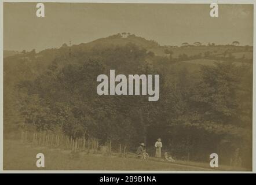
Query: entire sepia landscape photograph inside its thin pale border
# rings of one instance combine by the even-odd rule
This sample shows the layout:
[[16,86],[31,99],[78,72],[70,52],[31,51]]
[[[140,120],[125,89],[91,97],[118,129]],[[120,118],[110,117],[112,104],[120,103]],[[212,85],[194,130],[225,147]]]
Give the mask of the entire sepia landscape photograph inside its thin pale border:
[[2,10],[3,171],[253,171],[253,4]]

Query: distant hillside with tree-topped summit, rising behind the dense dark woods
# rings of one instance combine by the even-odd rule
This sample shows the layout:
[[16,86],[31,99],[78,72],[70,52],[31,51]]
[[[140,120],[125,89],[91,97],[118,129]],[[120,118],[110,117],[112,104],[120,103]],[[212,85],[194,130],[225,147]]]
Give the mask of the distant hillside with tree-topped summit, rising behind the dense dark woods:
[[[45,49],[38,53],[35,50],[22,53],[4,50],[5,81],[15,82],[21,79],[34,79],[45,72],[53,61],[58,62],[59,66],[65,66],[70,62],[83,62],[88,60],[89,57],[97,60],[112,57],[112,61],[119,60],[119,63],[116,64],[120,64],[123,62],[122,57],[125,57],[126,53],[123,54],[124,56],[109,56],[108,51],[109,49],[120,49],[119,46],[126,46],[130,43],[140,47],[140,49],[147,50],[145,51],[148,55],[147,62],[159,68],[162,66],[163,69],[177,66],[179,69],[186,67],[189,72],[196,72],[199,71],[202,65],[214,65],[214,61],[232,61],[237,62],[237,64],[253,63],[253,47],[251,46],[160,46],[154,40],[148,40],[134,34],[119,33],[92,42],[72,45],[71,47],[64,43],[59,48]],[[111,55],[113,55],[113,52]],[[140,55],[141,53],[138,54],[138,56]],[[133,61],[131,60],[131,63]],[[120,68],[120,66],[127,67],[125,64],[111,67]]]

